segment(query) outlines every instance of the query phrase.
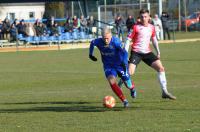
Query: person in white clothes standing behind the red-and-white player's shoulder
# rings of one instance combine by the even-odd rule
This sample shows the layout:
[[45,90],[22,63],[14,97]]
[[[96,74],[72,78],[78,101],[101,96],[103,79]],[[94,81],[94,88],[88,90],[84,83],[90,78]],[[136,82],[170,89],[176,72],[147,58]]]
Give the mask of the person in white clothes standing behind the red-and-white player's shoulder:
[[161,20],[158,18],[158,15],[157,15],[157,14],[154,15],[153,23],[154,23],[155,30],[156,30],[156,38],[157,38],[158,40],[160,40],[161,29],[162,29],[162,22],[161,22]]

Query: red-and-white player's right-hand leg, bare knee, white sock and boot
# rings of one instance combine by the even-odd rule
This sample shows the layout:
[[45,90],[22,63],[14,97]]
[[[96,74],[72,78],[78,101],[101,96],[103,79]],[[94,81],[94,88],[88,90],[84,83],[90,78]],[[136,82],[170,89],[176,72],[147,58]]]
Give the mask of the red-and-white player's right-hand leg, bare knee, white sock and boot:
[[151,65],[158,73],[158,80],[162,89],[162,98],[176,99],[171,93],[167,90],[167,79],[165,76],[165,69],[160,60],[156,60]]

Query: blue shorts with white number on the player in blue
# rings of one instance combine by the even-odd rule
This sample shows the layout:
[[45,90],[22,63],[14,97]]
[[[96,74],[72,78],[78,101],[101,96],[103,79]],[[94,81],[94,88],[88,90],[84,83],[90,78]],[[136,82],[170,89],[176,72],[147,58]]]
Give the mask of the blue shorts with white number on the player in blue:
[[116,66],[116,67],[104,67],[105,76],[108,77],[112,76],[119,76],[123,81],[127,81],[130,79],[130,75],[128,74],[128,69],[124,68],[123,66]]

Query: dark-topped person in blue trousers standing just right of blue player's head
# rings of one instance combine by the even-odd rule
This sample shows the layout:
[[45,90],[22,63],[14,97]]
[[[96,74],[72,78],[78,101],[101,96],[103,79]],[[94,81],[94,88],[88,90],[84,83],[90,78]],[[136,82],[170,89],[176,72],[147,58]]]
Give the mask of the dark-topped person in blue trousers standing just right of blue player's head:
[[117,29],[117,35],[122,41],[124,41],[124,30],[123,30],[124,24],[125,23],[124,23],[123,18],[120,15],[117,16],[115,19],[115,25]]

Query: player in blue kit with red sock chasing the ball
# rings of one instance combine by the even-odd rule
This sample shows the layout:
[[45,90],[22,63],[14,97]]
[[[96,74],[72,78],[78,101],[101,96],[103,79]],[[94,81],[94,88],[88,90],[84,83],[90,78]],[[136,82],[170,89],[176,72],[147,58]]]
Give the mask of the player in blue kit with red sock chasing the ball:
[[130,89],[131,96],[133,98],[136,97],[134,84],[128,73],[128,53],[123,48],[123,44],[119,38],[112,36],[109,28],[104,28],[102,31],[102,38],[97,38],[90,44],[89,58],[93,61],[97,61],[97,58],[93,56],[95,46],[100,51],[105,76],[112,90],[123,102],[124,107],[128,107],[128,100],[117,84],[117,76],[119,76],[123,80],[125,86]]

